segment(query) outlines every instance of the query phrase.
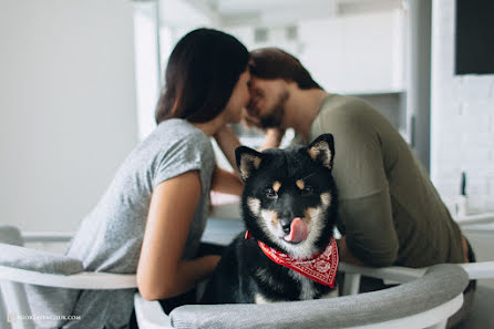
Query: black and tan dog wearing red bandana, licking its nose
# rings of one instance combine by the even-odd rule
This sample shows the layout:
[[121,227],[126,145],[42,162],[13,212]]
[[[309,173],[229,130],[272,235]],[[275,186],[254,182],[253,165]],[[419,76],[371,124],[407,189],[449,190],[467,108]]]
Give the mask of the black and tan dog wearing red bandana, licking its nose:
[[247,233],[224,251],[199,304],[265,304],[338,296],[335,143],[323,134],[308,146],[235,150],[245,183]]

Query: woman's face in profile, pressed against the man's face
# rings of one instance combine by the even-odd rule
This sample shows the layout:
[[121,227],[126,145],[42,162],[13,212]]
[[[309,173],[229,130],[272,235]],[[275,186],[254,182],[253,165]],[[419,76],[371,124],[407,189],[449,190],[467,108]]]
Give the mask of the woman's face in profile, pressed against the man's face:
[[225,121],[227,123],[238,123],[241,119],[241,110],[249,103],[249,81],[250,73],[246,70],[238,78],[234,91],[225,106]]

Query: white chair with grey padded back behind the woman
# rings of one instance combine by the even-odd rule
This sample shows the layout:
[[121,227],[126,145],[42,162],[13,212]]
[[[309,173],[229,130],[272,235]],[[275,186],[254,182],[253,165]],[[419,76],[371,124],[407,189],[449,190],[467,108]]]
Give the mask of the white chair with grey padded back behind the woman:
[[[33,234],[27,240],[66,241],[68,235]],[[29,299],[24,284],[69,289],[128,289],[136,287],[135,275],[89,273],[82,263],[65,256],[25,248],[23,238],[14,227],[0,226],[0,315],[8,321],[0,322],[0,329],[31,329]],[[9,326],[9,327],[8,327]]]

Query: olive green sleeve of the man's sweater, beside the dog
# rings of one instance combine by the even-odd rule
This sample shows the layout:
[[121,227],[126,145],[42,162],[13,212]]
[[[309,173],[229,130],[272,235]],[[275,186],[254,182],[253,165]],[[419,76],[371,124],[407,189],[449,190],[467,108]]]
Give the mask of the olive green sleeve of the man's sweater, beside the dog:
[[347,110],[322,114],[316,125],[320,133],[335,136],[338,220],[357,258],[372,266],[389,266],[398,256],[399,244],[381,138],[371,123]]

